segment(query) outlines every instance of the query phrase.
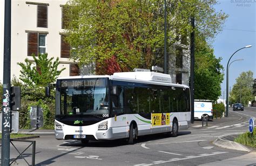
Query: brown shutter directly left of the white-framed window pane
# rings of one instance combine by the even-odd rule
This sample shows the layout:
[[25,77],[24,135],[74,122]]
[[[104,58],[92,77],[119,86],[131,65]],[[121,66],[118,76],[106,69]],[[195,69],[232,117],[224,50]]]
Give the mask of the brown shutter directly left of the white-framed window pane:
[[28,33],[28,56],[32,56],[32,53],[37,56],[38,52],[38,33]]

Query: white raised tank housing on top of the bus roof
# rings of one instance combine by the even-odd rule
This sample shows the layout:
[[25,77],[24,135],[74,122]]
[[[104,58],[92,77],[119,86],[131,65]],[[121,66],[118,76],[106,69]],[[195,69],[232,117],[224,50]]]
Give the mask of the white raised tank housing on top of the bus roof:
[[131,78],[137,80],[157,81],[171,83],[172,79],[169,74],[156,73],[156,72],[122,72],[114,73],[114,77]]

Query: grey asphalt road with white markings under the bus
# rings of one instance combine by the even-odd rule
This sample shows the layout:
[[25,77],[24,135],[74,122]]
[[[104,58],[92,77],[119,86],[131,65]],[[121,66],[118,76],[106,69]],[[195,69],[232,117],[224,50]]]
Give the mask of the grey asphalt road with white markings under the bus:
[[[202,127],[201,121],[195,121],[191,128],[181,130],[177,137],[166,134],[139,137],[138,142],[133,145],[127,145],[123,140],[90,141],[82,144],[73,140],[58,141],[54,136],[41,136],[31,140],[36,141],[37,165],[210,164],[248,154],[247,151],[221,148],[212,142],[224,134],[246,132],[248,119],[256,117],[256,108],[245,108],[239,112],[230,110],[228,115],[229,117],[208,122],[207,127]],[[23,151],[28,143],[17,142],[15,146]],[[11,146],[11,160],[17,156],[17,151]],[[24,157],[31,163],[31,148]],[[16,164],[26,165],[22,158],[12,165]]]

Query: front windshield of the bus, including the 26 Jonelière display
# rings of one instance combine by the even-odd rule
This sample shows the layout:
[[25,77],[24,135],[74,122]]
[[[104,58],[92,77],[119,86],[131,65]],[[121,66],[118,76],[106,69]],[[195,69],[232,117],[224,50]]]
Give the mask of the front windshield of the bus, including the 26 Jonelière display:
[[109,114],[106,82],[106,78],[59,80],[57,85],[60,93],[59,114]]

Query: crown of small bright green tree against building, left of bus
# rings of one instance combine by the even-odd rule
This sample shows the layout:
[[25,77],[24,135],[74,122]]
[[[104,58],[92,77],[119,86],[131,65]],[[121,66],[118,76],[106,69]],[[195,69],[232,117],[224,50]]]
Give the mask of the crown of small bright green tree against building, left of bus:
[[65,70],[58,70],[59,59],[52,62],[53,57],[48,59],[48,54],[39,54],[38,57],[32,54],[33,60],[25,59],[25,63],[17,63],[21,66],[19,79],[28,86],[45,87],[49,83],[55,82],[58,75]]

